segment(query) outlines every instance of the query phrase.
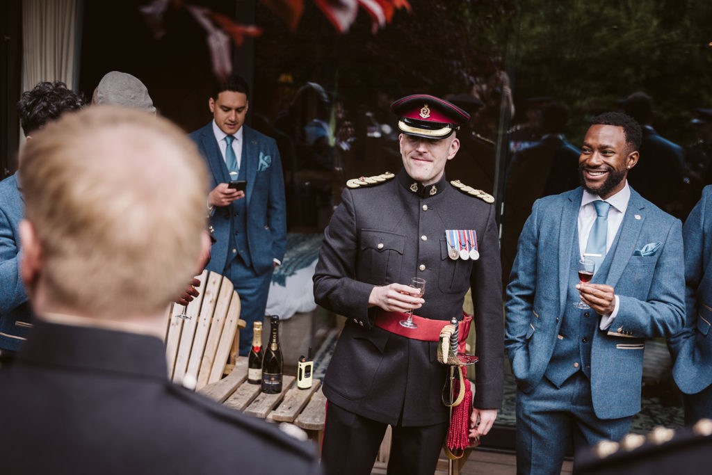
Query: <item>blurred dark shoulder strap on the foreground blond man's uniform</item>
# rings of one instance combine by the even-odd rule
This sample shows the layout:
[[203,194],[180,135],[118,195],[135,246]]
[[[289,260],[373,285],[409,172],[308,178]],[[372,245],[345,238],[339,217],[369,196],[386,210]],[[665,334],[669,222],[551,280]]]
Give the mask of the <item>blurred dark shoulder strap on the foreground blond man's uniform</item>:
[[[224,407],[184,387],[172,384],[169,387],[174,397],[211,417],[216,424],[228,424],[261,440],[268,449],[268,453],[273,454],[272,456],[277,456],[280,459],[292,459],[294,464],[303,464],[305,467],[318,467],[313,444],[305,442],[306,434],[302,429],[291,424],[287,424],[288,428],[282,429],[276,424],[269,424],[256,417],[241,414],[235,409]],[[296,472],[298,470],[295,466]],[[302,473],[318,473],[318,471],[307,470]]]

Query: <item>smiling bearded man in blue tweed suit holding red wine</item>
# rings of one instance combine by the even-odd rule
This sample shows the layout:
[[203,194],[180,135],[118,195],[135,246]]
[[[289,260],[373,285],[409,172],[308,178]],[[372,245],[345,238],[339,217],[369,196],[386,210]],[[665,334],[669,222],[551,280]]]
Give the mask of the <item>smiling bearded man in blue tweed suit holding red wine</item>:
[[[520,474],[559,474],[570,440],[579,449],[627,434],[640,410],[645,339],[681,328],[681,223],[626,180],[641,135],[627,115],[594,118],[579,158],[582,188],[535,202],[520,236],[505,336]],[[578,285],[582,258],[596,268]]]

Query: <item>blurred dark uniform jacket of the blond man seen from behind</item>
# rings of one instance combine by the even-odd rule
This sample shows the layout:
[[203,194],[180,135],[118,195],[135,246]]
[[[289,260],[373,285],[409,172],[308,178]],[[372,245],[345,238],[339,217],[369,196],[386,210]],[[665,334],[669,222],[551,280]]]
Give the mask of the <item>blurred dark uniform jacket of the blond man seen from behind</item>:
[[318,474],[312,444],[172,384],[159,338],[38,321],[0,370],[3,474]]

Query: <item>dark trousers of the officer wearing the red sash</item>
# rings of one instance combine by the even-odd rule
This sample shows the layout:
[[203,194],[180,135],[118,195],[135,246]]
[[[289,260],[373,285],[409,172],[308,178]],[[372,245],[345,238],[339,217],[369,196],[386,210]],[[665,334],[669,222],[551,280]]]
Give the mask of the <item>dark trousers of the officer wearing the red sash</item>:
[[[329,402],[321,464],[326,475],[369,475],[388,424]],[[389,475],[432,475],[448,424],[392,427]]]

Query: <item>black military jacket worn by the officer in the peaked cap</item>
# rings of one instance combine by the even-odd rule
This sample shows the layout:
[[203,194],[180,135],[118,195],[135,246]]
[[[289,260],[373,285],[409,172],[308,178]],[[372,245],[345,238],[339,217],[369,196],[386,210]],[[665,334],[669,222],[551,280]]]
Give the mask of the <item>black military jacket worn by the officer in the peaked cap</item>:
[[[314,276],[317,303],[347,322],[324,381],[328,400],[364,417],[404,426],[444,422],[441,402],[446,367],[437,343],[412,340],[374,326],[368,307],[374,286],[426,281],[424,318],[462,319],[472,288],[476,394],[474,406],[498,408],[502,401],[503,309],[494,207],[465,194],[443,177],[429,187],[404,171],[372,187],[345,189],[319,253]],[[434,190],[434,191],[433,191]],[[432,194],[431,194],[432,193]],[[474,229],[480,258],[448,257],[446,229]],[[471,370],[472,371],[472,370]],[[472,378],[473,373],[469,372]]]

